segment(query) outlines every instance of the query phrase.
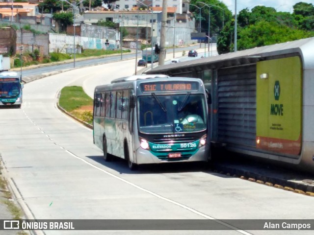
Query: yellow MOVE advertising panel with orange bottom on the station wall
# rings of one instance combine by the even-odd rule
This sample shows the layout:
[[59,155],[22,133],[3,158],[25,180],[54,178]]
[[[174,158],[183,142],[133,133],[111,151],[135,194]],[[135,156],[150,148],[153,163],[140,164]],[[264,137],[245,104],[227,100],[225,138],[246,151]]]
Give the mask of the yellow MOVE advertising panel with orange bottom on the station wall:
[[257,63],[256,146],[299,155],[302,68],[298,56]]

